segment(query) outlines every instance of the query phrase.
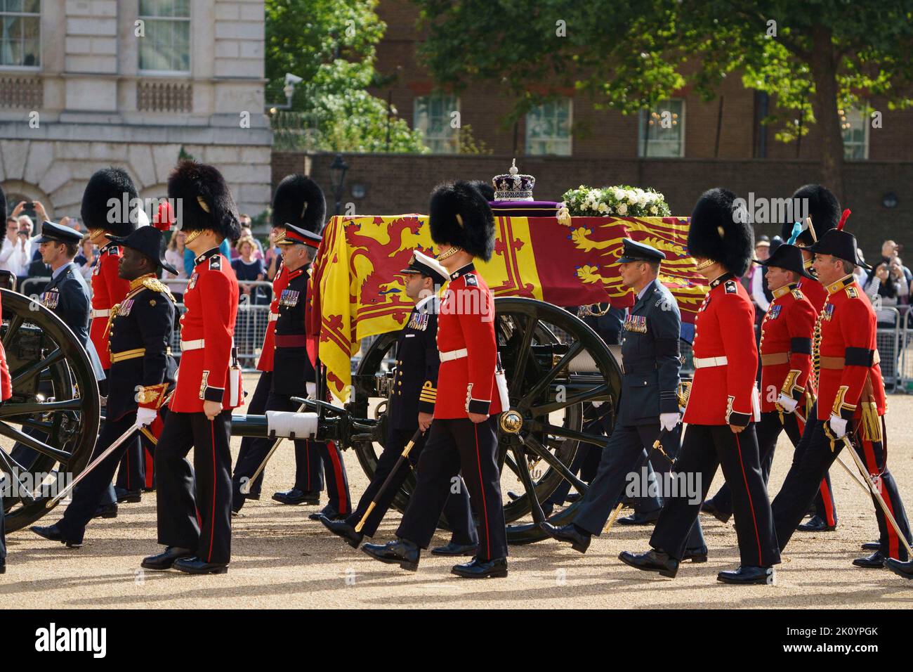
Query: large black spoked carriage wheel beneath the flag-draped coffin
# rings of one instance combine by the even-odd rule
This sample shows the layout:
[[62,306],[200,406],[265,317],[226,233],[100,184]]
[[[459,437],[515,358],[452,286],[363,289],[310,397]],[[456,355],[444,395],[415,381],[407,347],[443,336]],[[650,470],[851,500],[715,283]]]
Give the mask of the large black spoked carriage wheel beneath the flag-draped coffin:
[[[504,517],[509,542],[530,543],[544,538],[539,528],[543,520],[559,525],[572,519],[575,504],[552,507],[549,516],[541,507],[548,508],[553,495],[563,501],[569,489],[586,491],[575,472],[583,451],[599,450],[607,441],[603,427],[611,429],[621,370],[593,329],[557,306],[505,297],[495,300],[495,309],[510,400],[498,427]],[[358,375],[383,376],[395,345],[394,334],[379,337],[362,359]],[[372,408],[385,410],[380,395],[370,401]],[[607,417],[593,421],[597,414]],[[362,442],[352,448],[365,473],[373,475],[383,446]],[[394,506],[404,510],[414,487],[410,477]]]

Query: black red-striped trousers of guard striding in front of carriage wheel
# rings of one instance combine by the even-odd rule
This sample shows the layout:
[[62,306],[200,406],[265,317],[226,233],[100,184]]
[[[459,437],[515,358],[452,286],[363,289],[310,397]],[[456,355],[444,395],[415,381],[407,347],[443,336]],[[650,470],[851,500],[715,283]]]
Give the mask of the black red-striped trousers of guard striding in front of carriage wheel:
[[[468,418],[432,421],[428,442],[418,460],[415,493],[396,530],[397,537],[427,549],[447,497],[459,488],[462,472],[473,507],[478,512],[477,559],[507,557],[497,422],[497,416],[478,424]],[[468,509],[468,501],[464,502]],[[472,515],[469,510],[465,513]]]

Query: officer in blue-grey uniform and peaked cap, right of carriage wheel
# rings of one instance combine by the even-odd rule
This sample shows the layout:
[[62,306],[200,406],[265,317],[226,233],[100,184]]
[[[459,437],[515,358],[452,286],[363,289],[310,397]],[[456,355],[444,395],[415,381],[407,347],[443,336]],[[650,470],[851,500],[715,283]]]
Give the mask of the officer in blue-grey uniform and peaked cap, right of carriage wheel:
[[[622,339],[622,394],[609,443],[603,448],[596,477],[583,496],[573,522],[563,528],[546,523],[554,539],[568,541],[585,552],[593,535],[598,536],[615,505],[624,495],[632,473],[637,491],[650,489],[640,483],[647,473],[642,457],[649,451],[657,477],[656,486],[666,482],[669,461],[653,443],[662,432],[665,452],[674,457],[679,446],[678,336],[681,315],[672,294],[659,282],[659,266],[666,255],[634,240],[624,240],[618,262],[622,282],[637,294],[634,307],[624,320]],[[698,496],[700,496],[698,491]],[[657,497],[657,503],[661,499]],[[688,539],[685,559],[707,560],[707,546],[699,523]]]

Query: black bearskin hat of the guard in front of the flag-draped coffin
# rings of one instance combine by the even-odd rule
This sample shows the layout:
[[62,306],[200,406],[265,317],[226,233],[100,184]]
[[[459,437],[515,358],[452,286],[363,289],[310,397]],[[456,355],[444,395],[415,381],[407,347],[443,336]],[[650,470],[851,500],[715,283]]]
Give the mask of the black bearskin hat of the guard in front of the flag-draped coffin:
[[482,261],[495,249],[495,218],[488,201],[468,182],[435,188],[428,208],[431,240],[461,247]]

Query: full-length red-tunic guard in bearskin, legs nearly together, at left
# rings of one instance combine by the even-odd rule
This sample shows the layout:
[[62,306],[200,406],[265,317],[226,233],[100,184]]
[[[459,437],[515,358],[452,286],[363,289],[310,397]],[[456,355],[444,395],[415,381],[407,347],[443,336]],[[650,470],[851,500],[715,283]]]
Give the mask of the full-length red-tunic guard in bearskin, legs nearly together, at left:
[[184,293],[177,386],[155,450],[158,540],[166,548],[142,567],[221,574],[231,559],[231,411],[243,393],[233,343],[238,287],[219,245],[241,229],[211,165],[182,161],[168,177],[168,197],[182,204],[177,225],[197,256]]

